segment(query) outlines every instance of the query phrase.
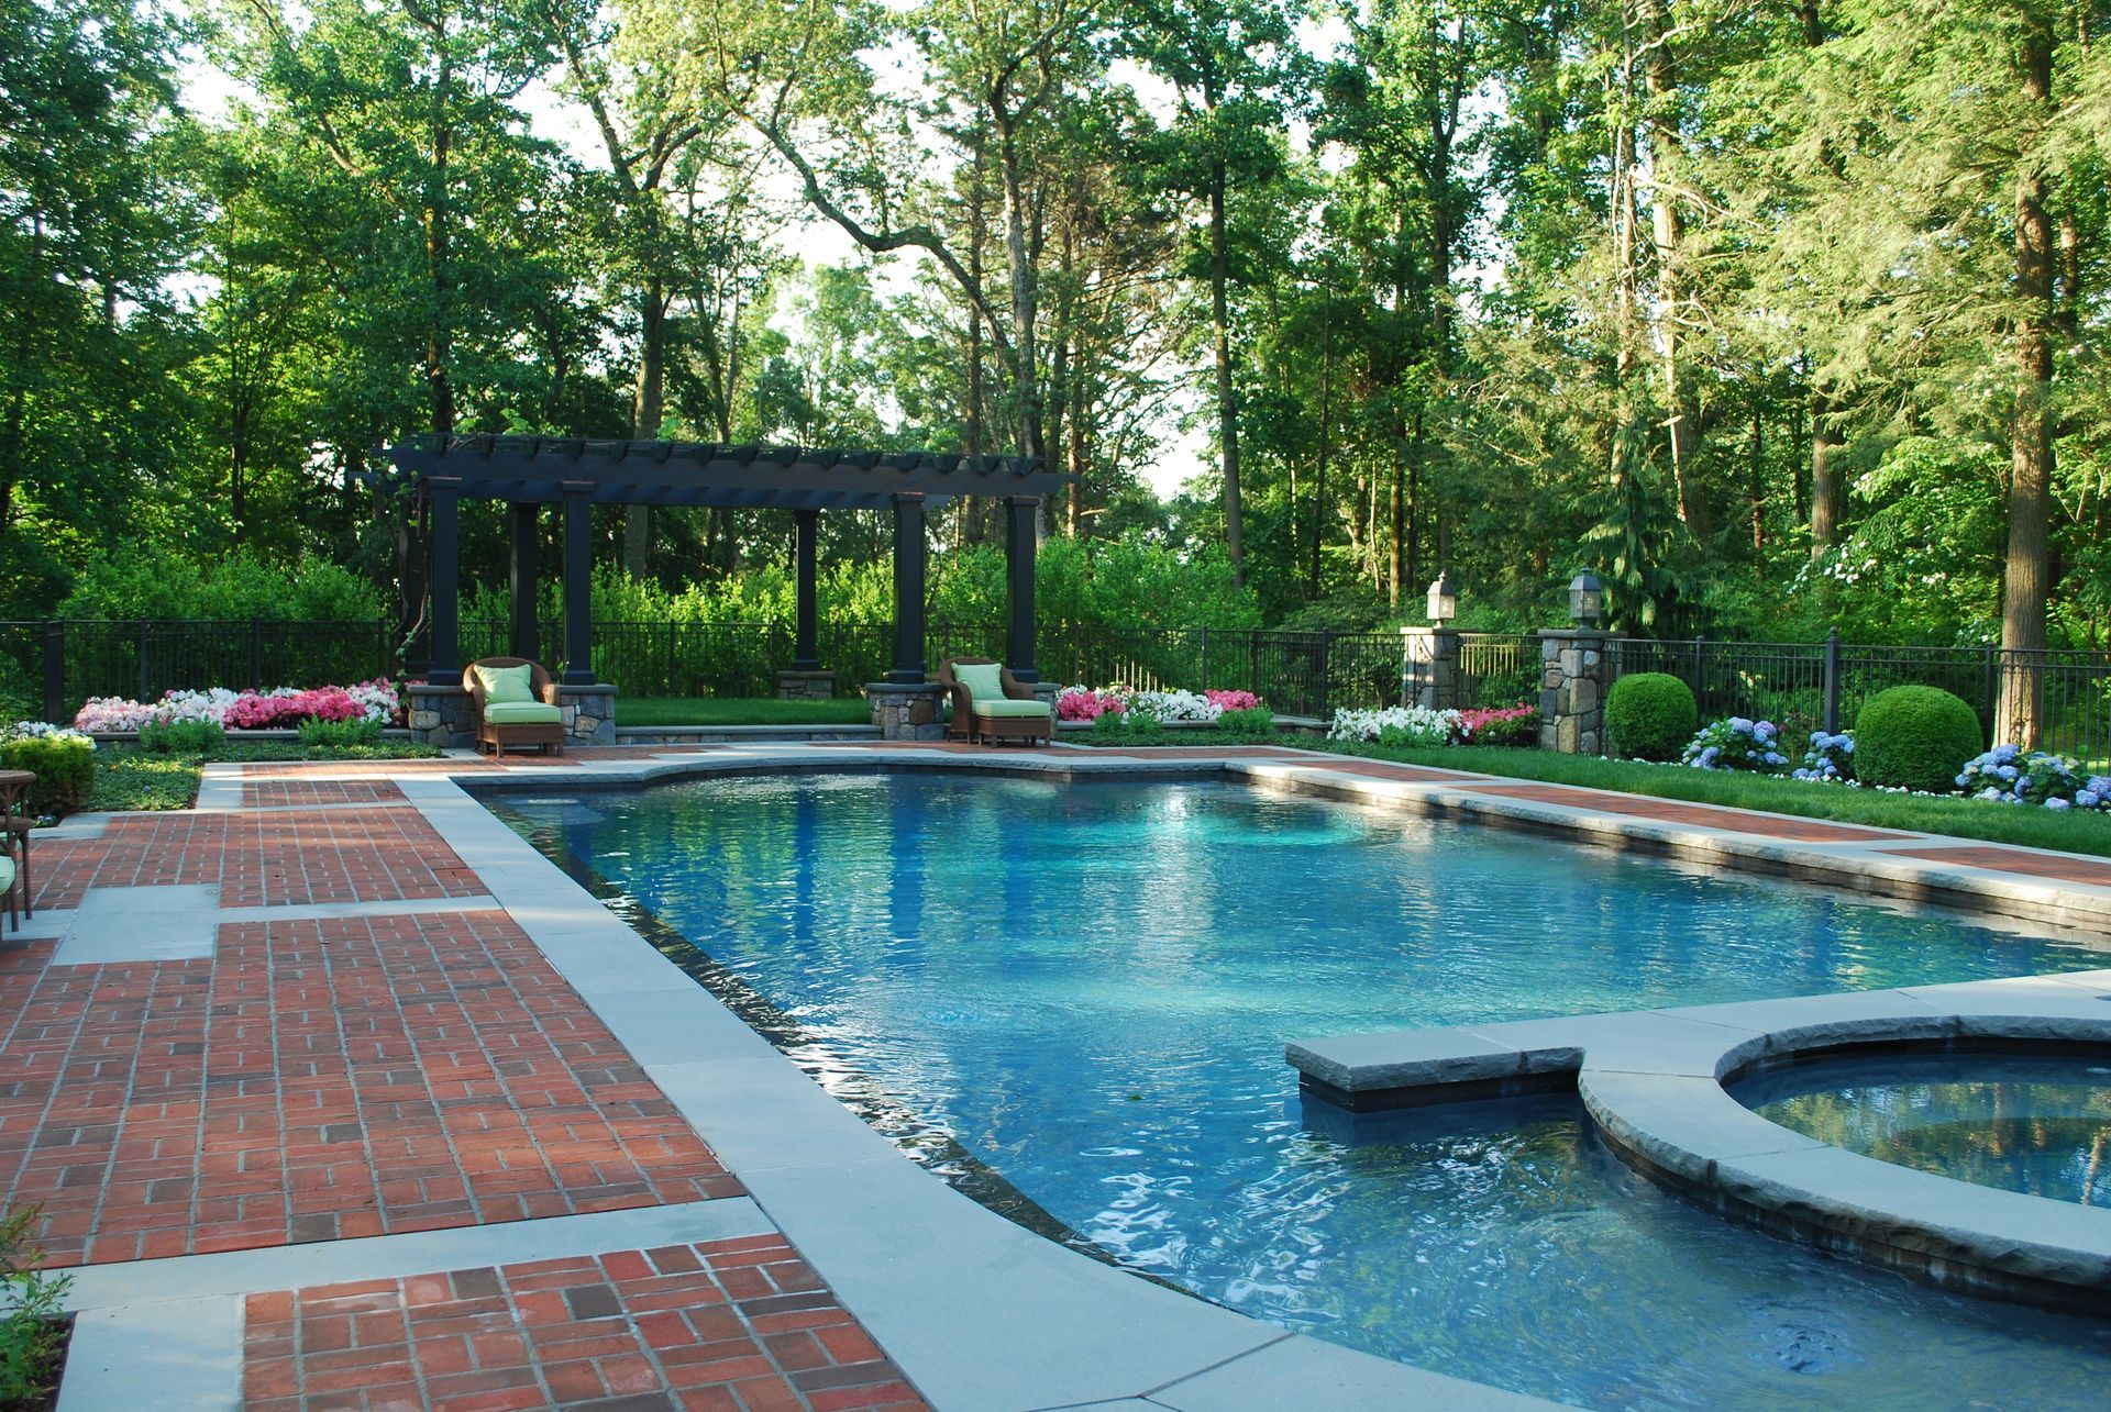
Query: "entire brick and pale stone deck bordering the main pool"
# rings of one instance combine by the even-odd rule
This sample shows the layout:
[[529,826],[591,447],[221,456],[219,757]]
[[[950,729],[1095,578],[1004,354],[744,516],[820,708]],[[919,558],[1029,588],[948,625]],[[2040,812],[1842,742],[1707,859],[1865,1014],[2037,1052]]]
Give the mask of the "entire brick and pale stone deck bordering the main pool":
[[40,834],[38,941],[0,952],[0,1171],[74,1277],[63,1406],[1537,1406],[975,1205],[471,791],[783,768],[1218,775],[2111,920],[2100,859],[1273,747],[211,766],[194,810]]

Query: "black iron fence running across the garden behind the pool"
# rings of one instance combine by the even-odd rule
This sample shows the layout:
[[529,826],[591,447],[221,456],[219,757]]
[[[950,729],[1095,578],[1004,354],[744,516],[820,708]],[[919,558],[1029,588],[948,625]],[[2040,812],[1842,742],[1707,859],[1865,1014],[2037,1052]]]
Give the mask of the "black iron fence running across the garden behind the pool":
[[[509,650],[502,621],[464,621],[464,661]],[[403,671],[416,644],[380,621],[0,621],[0,694],[72,720],[89,697],[152,701],[171,688],[321,686]],[[1003,656],[1001,625],[933,623],[927,661]],[[593,625],[597,673],[627,697],[771,697],[792,665],[790,623]],[[889,623],[823,623],[821,663],[838,694],[880,680],[893,656]],[[2111,756],[2111,652],[1999,648],[1883,648],[1828,642],[1615,640],[1613,678],[1668,671],[1701,715],[1765,715],[1794,739],[1851,726],[1875,692],[1904,682],[1951,690],[1989,728],[2003,694],[2035,703],[2041,741],[2086,760]],[[538,656],[562,659],[557,621],[538,625]],[[1412,667],[1400,633],[1281,633],[1264,629],[1108,629],[1043,623],[1034,665],[1045,680],[1150,690],[1250,690],[1281,715],[1400,705]],[[1461,633],[1459,701],[1537,701],[1541,646],[1533,633]]]

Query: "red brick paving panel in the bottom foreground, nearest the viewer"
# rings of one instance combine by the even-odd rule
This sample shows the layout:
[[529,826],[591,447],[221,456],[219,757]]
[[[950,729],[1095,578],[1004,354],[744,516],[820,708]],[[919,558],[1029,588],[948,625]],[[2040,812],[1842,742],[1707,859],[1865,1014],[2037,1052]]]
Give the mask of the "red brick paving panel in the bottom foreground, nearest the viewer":
[[920,1408],[762,1235],[247,1300],[243,1401],[323,1408]]

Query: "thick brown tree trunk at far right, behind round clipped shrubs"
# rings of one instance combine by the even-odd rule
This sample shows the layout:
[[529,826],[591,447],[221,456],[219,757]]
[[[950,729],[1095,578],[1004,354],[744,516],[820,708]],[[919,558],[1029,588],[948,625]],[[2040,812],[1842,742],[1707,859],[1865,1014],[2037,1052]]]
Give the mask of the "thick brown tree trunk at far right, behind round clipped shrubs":
[[[2052,106],[2052,25],[2033,15],[2022,42],[2022,95]],[[2037,747],[2043,730],[2046,593],[2052,585],[2052,215],[2046,173],[2016,179],[2016,412],[2010,424],[2008,559],[2001,570],[2001,703],[1995,739]]]

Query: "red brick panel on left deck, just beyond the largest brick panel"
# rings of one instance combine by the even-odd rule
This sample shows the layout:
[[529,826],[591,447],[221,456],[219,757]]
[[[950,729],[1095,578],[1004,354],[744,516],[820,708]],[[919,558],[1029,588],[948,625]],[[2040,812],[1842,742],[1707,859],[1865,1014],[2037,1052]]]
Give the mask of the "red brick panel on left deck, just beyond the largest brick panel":
[[91,886],[217,882],[222,908],[475,897],[483,884],[414,808],[116,817],[36,844],[36,905]]

